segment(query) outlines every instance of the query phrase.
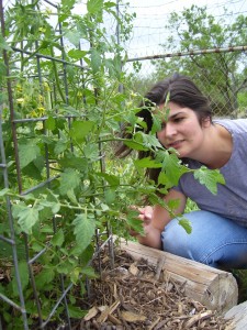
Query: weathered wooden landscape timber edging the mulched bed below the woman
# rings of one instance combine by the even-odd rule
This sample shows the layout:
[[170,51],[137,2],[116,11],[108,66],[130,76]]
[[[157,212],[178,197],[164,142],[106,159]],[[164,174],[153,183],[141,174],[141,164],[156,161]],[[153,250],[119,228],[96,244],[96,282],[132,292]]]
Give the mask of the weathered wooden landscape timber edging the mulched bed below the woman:
[[225,314],[237,305],[238,287],[233,274],[132,241],[120,240],[120,249],[135,260],[147,260],[157,265],[165,258],[164,272],[172,279],[184,284],[187,296],[209,309]]

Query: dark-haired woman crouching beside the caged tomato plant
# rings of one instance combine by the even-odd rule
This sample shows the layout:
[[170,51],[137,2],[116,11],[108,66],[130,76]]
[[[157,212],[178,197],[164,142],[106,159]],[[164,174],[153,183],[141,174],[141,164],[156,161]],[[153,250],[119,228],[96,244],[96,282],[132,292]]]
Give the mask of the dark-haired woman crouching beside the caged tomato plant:
[[168,116],[157,133],[164,147],[177,150],[190,168],[218,168],[225,185],[217,186],[215,196],[193,174],[183,174],[164,199],[180,200],[175,215],[184,212],[187,198],[197,202],[200,210],[184,215],[192,233],[187,234],[162,207],[146,206],[138,209],[145,232],[144,237],[137,234],[139,243],[221,270],[247,270],[247,120],[212,121],[206,97],[184,76],[158,82],[145,99],[149,101],[138,116],[148,130],[148,103],[162,111],[169,100]]

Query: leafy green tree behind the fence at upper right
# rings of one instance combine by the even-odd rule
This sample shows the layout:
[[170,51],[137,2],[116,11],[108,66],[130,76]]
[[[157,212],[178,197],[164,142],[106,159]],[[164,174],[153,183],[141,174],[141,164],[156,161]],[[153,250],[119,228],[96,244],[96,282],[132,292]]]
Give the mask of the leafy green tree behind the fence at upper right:
[[[238,15],[233,24],[216,22],[206,7],[192,6],[181,13],[172,12],[166,28],[170,36],[162,44],[165,52],[190,54],[153,62],[158,79],[175,72],[189,75],[210,97],[216,114],[234,117],[240,110],[239,100],[247,105],[247,61],[245,52],[231,47],[247,45],[247,16]],[[213,48],[229,51],[193,54]]]

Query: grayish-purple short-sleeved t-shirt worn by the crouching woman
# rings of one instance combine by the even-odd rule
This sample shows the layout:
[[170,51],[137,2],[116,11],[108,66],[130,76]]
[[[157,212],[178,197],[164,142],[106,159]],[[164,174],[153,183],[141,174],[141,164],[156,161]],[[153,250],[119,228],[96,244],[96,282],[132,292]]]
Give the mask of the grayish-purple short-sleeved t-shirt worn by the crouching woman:
[[[229,161],[220,168],[225,185],[217,185],[213,195],[204,185],[194,179],[193,174],[183,174],[173,189],[183,193],[195,201],[200,209],[220,213],[247,227],[247,119],[215,120],[227,129],[233,136],[233,153]],[[190,168],[202,166],[190,160]]]

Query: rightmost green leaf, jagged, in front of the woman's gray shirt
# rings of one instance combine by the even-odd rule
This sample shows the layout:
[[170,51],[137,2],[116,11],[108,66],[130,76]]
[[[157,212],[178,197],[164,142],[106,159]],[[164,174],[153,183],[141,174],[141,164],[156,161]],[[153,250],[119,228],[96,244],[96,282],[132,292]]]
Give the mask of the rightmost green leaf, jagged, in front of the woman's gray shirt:
[[213,195],[217,194],[217,184],[225,185],[225,179],[218,169],[209,169],[205,166],[194,170],[194,178],[201,185],[205,185]]

